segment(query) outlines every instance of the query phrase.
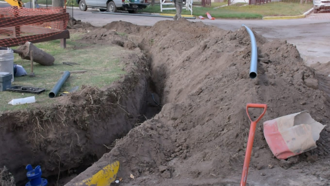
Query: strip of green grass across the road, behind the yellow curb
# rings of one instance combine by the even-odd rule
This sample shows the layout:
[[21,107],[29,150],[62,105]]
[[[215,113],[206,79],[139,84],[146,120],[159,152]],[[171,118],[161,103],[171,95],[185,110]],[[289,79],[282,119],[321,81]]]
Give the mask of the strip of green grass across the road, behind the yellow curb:
[[[313,7],[312,3],[299,4],[299,3],[269,3],[264,5],[250,5],[250,6],[225,6],[217,9],[224,3],[212,3],[212,7],[199,7],[194,6],[192,14],[194,16],[206,17],[206,12],[209,12],[212,17],[216,18],[238,18],[238,19],[261,19],[262,16],[293,16],[301,15]],[[169,6],[173,7],[173,6]],[[175,10],[164,10],[160,12],[160,6],[149,6],[141,12],[148,13],[166,13],[175,14]],[[183,10],[182,14],[190,15],[189,11]]]

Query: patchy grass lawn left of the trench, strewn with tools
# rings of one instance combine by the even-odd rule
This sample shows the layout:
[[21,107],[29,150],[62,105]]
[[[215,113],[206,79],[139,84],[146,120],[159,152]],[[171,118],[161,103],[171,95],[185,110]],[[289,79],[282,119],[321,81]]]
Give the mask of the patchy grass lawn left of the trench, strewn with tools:
[[[70,90],[75,86],[79,86],[79,88],[81,88],[81,85],[105,87],[126,73],[125,71],[122,71],[124,64],[121,63],[119,58],[123,55],[123,52],[124,54],[127,54],[132,51],[122,51],[123,49],[117,46],[98,47],[97,45],[88,46],[79,44],[75,40],[80,37],[81,35],[72,34],[70,36],[71,39],[67,40],[67,49],[62,49],[59,47],[59,40],[36,44],[37,47],[55,57],[54,65],[45,67],[34,63],[34,73],[36,77],[15,77],[14,82],[12,82],[12,86],[19,85],[40,87],[46,88],[46,91],[40,95],[28,93],[24,93],[22,95],[22,93],[18,92],[2,91],[0,92],[0,111],[34,108],[31,104],[16,106],[8,105],[8,102],[17,98],[36,96],[37,103],[42,103],[43,105],[55,102],[56,99],[48,98],[48,94],[52,87],[56,84],[57,80],[62,76],[60,72],[63,71],[87,70],[84,74],[72,73],[68,80],[63,84],[60,92]],[[73,46],[78,46],[81,49],[75,49]],[[14,55],[14,63],[23,66],[26,73],[29,74],[30,62],[28,60],[20,59],[17,54]],[[73,62],[80,65],[68,66],[62,64],[62,62]]]

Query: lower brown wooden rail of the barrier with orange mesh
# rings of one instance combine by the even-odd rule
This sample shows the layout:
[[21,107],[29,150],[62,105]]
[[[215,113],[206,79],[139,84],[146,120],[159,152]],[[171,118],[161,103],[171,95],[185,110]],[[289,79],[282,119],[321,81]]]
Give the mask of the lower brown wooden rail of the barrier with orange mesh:
[[17,38],[9,38],[0,40],[0,46],[2,47],[13,47],[19,46],[19,44],[24,44],[25,42],[40,43],[45,41],[59,40],[59,39],[69,39],[69,30],[62,30],[51,34],[38,34],[32,36],[21,36]]

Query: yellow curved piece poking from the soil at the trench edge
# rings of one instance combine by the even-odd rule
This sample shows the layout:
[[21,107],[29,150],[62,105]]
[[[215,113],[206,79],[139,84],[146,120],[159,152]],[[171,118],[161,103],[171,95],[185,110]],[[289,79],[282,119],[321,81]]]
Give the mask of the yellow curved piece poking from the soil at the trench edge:
[[88,186],[109,186],[110,183],[116,180],[116,176],[119,170],[119,162],[116,161],[107,165],[102,170],[98,171],[90,178],[82,180],[76,185],[88,185]]

